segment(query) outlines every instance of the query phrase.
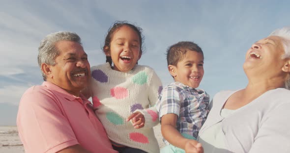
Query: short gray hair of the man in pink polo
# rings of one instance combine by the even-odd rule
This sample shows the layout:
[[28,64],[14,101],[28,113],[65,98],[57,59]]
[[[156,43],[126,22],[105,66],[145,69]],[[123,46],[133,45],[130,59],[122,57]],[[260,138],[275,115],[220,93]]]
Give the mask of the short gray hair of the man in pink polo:
[[[52,66],[56,64],[55,59],[59,55],[56,43],[63,40],[77,42],[82,45],[81,38],[74,32],[60,31],[47,35],[44,39],[42,39],[38,48],[37,60],[40,69],[42,63]],[[46,81],[46,75],[42,71],[41,73],[43,80]]]

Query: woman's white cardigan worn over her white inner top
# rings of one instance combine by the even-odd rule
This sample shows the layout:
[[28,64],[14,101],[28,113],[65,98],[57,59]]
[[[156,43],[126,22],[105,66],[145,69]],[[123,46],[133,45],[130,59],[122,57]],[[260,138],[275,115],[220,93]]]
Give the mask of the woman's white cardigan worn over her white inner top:
[[224,139],[217,141],[224,141],[225,149],[215,153],[290,153],[290,90],[269,90],[224,118],[220,112],[233,93],[222,91],[214,96],[198,141],[208,128],[222,121]]

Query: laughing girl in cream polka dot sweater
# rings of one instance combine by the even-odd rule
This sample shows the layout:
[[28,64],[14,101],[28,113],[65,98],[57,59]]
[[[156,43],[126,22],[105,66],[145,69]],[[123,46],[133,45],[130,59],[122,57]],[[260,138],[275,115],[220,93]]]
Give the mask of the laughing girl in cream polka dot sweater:
[[[91,67],[95,113],[119,153],[159,153],[153,132],[158,114],[149,107],[158,100],[162,84],[150,67],[137,65],[142,55],[141,32],[137,26],[116,22],[103,47],[107,63]],[[135,121],[139,119],[136,111],[144,115],[140,121]],[[133,126],[127,122],[131,119]]]

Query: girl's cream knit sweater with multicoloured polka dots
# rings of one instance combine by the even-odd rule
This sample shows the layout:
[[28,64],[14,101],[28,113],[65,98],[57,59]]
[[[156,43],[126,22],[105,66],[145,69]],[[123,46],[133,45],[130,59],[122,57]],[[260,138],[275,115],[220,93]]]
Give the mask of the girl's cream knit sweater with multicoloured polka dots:
[[[155,102],[162,83],[153,69],[136,65],[129,72],[111,69],[109,63],[91,67],[92,102],[111,141],[159,153],[153,127],[159,123]],[[153,106],[153,107],[150,107]],[[135,129],[126,118],[135,111],[145,116],[145,126]]]

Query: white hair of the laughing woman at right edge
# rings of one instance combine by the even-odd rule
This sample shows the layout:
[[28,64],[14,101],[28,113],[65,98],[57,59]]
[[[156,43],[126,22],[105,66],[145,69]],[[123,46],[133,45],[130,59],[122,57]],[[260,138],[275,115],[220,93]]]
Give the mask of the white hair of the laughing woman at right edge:
[[[276,29],[269,36],[282,37],[282,45],[285,52],[285,54],[282,56],[282,59],[290,58],[290,26]],[[288,77],[285,80],[285,87],[286,89],[290,90],[290,74],[288,74]]]

